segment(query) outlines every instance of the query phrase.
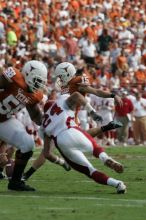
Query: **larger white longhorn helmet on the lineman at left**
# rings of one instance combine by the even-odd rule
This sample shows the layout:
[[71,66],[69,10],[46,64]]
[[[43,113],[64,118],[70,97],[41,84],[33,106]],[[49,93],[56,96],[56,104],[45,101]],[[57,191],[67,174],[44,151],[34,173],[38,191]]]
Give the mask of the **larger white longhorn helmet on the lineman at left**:
[[22,74],[31,91],[45,88],[48,71],[42,62],[37,60],[26,62],[22,68]]

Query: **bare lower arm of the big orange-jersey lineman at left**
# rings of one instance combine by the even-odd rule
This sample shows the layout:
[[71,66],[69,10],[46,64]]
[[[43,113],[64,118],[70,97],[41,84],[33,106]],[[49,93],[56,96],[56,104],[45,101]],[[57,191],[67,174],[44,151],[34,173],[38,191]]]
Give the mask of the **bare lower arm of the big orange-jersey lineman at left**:
[[41,125],[43,113],[41,112],[40,107],[35,104],[27,106],[26,108],[29,112],[31,120],[34,121],[37,125]]

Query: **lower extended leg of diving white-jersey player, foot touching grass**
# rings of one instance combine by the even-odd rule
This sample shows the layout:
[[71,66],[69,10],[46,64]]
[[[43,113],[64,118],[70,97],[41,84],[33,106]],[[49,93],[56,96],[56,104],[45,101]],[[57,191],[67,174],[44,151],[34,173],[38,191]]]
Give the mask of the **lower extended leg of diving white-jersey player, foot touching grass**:
[[[77,136],[76,136],[77,138]],[[116,180],[104,174],[103,172],[98,171],[86,158],[84,153],[81,151],[81,148],[78,146],[75,147],[76,141],[74,141],[70,135],[66,134],[66,139],[72,142],[70,146],[67,141],[62,142],[61,138],[58,137],[56,141],[56,146],[61,151],[65,160],[68,164],[75,170],[84,173],[88,177],[92,178],[95,182],[99,184],[109,185],[117,188],[117,193],[124,193],[126,186],[120,180]],[[78,138],[77,138],[78,139]],[[80,145],[82,145],[80,141]],[[74,146],[74,147],[73,147]],[[120,186],[120,187],[119,187]]]

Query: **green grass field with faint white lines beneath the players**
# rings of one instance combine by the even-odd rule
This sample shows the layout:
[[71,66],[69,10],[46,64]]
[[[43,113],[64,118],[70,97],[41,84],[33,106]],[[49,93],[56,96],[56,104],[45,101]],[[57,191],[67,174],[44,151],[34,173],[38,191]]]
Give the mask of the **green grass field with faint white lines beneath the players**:
[[[123,174],[90,160],[108,175],[123,180],[127,193],[97,185],[83,174],[45,163],[28,181],[36,192],[11,192],[0,182],[0,220],[144,220],[146,219],[146,147],[114,147],[106,151],[125,166]],[[34,157],[39,154],[35,151]],[[29,165],[32,163],[30,161]]]

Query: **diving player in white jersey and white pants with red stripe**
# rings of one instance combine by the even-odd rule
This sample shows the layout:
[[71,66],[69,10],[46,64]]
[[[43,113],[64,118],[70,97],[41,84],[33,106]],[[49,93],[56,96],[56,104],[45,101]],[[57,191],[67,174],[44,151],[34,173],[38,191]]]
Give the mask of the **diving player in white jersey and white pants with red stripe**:
[[75,123],[74,110],[78,104],[84,106],[92,117],[93,108],[89,107],[85,98],[78,92],[74,92],[69,97],[62,96],[56,102],[46,103],[42,121],[45,157],[49,155],[50,143],[53,139],[56,147],[73,169],[84,173],[97,183],[117,188],[117,193],[125,193],[126,186],[122,181],[98,171],[85,156],[84,153],[89,152],[116,172],[123,172],[123,166],[109,157],[90,135],[94,136],[94,128],[87,133]]

